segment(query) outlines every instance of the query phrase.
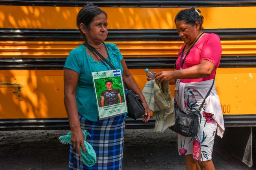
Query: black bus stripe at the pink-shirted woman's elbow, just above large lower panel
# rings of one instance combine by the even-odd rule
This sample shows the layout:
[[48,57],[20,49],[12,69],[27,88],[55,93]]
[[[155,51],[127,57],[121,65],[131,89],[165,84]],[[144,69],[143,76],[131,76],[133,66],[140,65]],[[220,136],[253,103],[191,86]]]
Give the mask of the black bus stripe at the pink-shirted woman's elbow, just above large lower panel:
[[[0,58],[0,70],[62,70],[66,58]],[[129,69],[174,68],[176,57],[124,57]],[[226,56],[219,68],[256,67],[256,56]]]

